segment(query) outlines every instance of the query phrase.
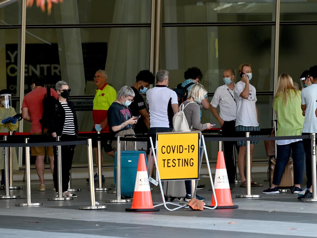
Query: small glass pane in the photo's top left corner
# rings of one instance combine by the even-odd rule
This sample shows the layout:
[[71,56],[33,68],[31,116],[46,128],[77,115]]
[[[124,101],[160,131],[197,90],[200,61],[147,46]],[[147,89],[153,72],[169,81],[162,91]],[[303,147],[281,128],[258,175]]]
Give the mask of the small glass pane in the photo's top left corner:
[[0,1],[0,25],[21,25],[21,2]]

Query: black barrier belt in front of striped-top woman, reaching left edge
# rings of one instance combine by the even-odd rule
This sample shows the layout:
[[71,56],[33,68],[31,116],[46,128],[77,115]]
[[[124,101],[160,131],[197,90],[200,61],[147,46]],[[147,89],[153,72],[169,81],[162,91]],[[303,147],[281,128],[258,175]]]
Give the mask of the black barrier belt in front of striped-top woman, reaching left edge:
[[87,140],[76,141],[59,141],[59,142],[31,142],[31,143],[8,143],[0,141],[0,147],[39,147],[39,146],[56,146],[56,145],[87,145]]

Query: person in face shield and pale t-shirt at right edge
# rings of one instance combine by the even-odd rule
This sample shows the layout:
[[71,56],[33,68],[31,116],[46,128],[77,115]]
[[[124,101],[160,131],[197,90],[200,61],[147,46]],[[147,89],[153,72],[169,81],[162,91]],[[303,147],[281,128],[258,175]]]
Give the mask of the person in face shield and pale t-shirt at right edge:
[[[303,111],[303,116],[305,116],[302,135],[317,133],[317,117],[315,115],[315,110],[317,106],[317,65],[310,67],[307,81],[308,79],[310,79],[311,84],[309,85],[309,87],[306,87],[301,91],[301,109]],[[313,197],[310,139],[303,139],[303,146],[306,156],[306,188],[309,190],[306,190],[304,195],[299,196],[299,200],[301,200],[302,198]]]

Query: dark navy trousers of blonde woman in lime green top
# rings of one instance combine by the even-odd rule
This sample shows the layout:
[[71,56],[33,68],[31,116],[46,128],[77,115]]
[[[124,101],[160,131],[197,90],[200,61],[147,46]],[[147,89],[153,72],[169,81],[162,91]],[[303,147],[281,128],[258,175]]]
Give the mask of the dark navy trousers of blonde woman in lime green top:
[[294,163],[294,184],[303,182],[304,147],[302,141],[297,141],[287,145],[276,145],[276,164],[272,181],[275,185],[279,185],[281,182],[291,150]]

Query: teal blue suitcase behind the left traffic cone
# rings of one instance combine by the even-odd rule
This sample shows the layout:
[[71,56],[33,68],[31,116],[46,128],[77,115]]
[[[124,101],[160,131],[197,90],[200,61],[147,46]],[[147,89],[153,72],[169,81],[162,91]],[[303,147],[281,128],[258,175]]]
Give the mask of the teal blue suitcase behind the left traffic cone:
[[[133,196],[135,178],[137,175],[139,155],[144,154],[146,166],[147,159],[145,151],[121,151],[121,195]],[[117,184],[117,152],[114,154],[114,183]]]

